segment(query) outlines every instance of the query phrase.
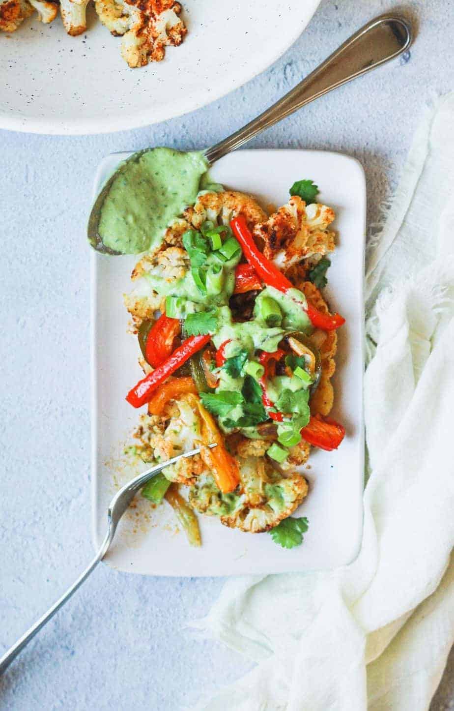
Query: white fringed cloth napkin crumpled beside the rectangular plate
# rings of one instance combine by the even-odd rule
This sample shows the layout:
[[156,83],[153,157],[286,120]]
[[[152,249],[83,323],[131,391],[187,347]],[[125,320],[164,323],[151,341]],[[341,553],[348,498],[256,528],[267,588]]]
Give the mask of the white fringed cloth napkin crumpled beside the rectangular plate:
[[423,711],[441,679],[454,640],[454,95],[418,129],[366,296],[360,555],[229,580],[194,626],[256,666],[200,709]]

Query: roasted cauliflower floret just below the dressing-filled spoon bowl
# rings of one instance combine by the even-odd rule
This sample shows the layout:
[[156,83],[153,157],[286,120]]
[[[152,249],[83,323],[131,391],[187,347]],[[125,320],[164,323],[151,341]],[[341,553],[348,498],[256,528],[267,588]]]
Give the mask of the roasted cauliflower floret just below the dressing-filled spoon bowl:
[[180,247],[168,247],[157,254],[146,255],[137,262],[131,274],[131,279],[136,284],[135,289],[130,294],[123,295],[124,304],[134,323],[139,324],[144,319],[151,320],[156,311],[162,310],[164,297],[153,289],[147,275],[162,277],[166,282],[175,282],[185,276],[189,267],[188,252]]

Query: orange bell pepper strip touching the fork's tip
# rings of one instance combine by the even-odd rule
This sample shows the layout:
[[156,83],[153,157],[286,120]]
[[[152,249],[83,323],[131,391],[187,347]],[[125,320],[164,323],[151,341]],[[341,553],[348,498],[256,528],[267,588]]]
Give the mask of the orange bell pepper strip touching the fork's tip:
[[[200,445],[200,455],[205,464],[212,471],[215,477],[217,488],[222,493],[234,491],[239,484],[239,468],[237,461],[229,454],[225,448],[224,437],[220,433],[215,420],[210,412],[205,410],[202,402],[195,395],[188,395],[193,410],[197,410],[202,420],[202,442]],[[217,444],[217,447],[207,447],[208,444]]]

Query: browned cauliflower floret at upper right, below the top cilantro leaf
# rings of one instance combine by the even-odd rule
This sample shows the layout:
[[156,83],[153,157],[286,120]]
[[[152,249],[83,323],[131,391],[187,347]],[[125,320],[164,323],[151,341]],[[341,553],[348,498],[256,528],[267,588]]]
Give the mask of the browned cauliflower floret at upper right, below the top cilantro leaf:
[[334,232],[328,226],[335,218],[334,210],[327,205],[307,205],[298,196],[254,228],[254,237],[263,245],[267,259],[284,271],[296,262],[333,252]]

